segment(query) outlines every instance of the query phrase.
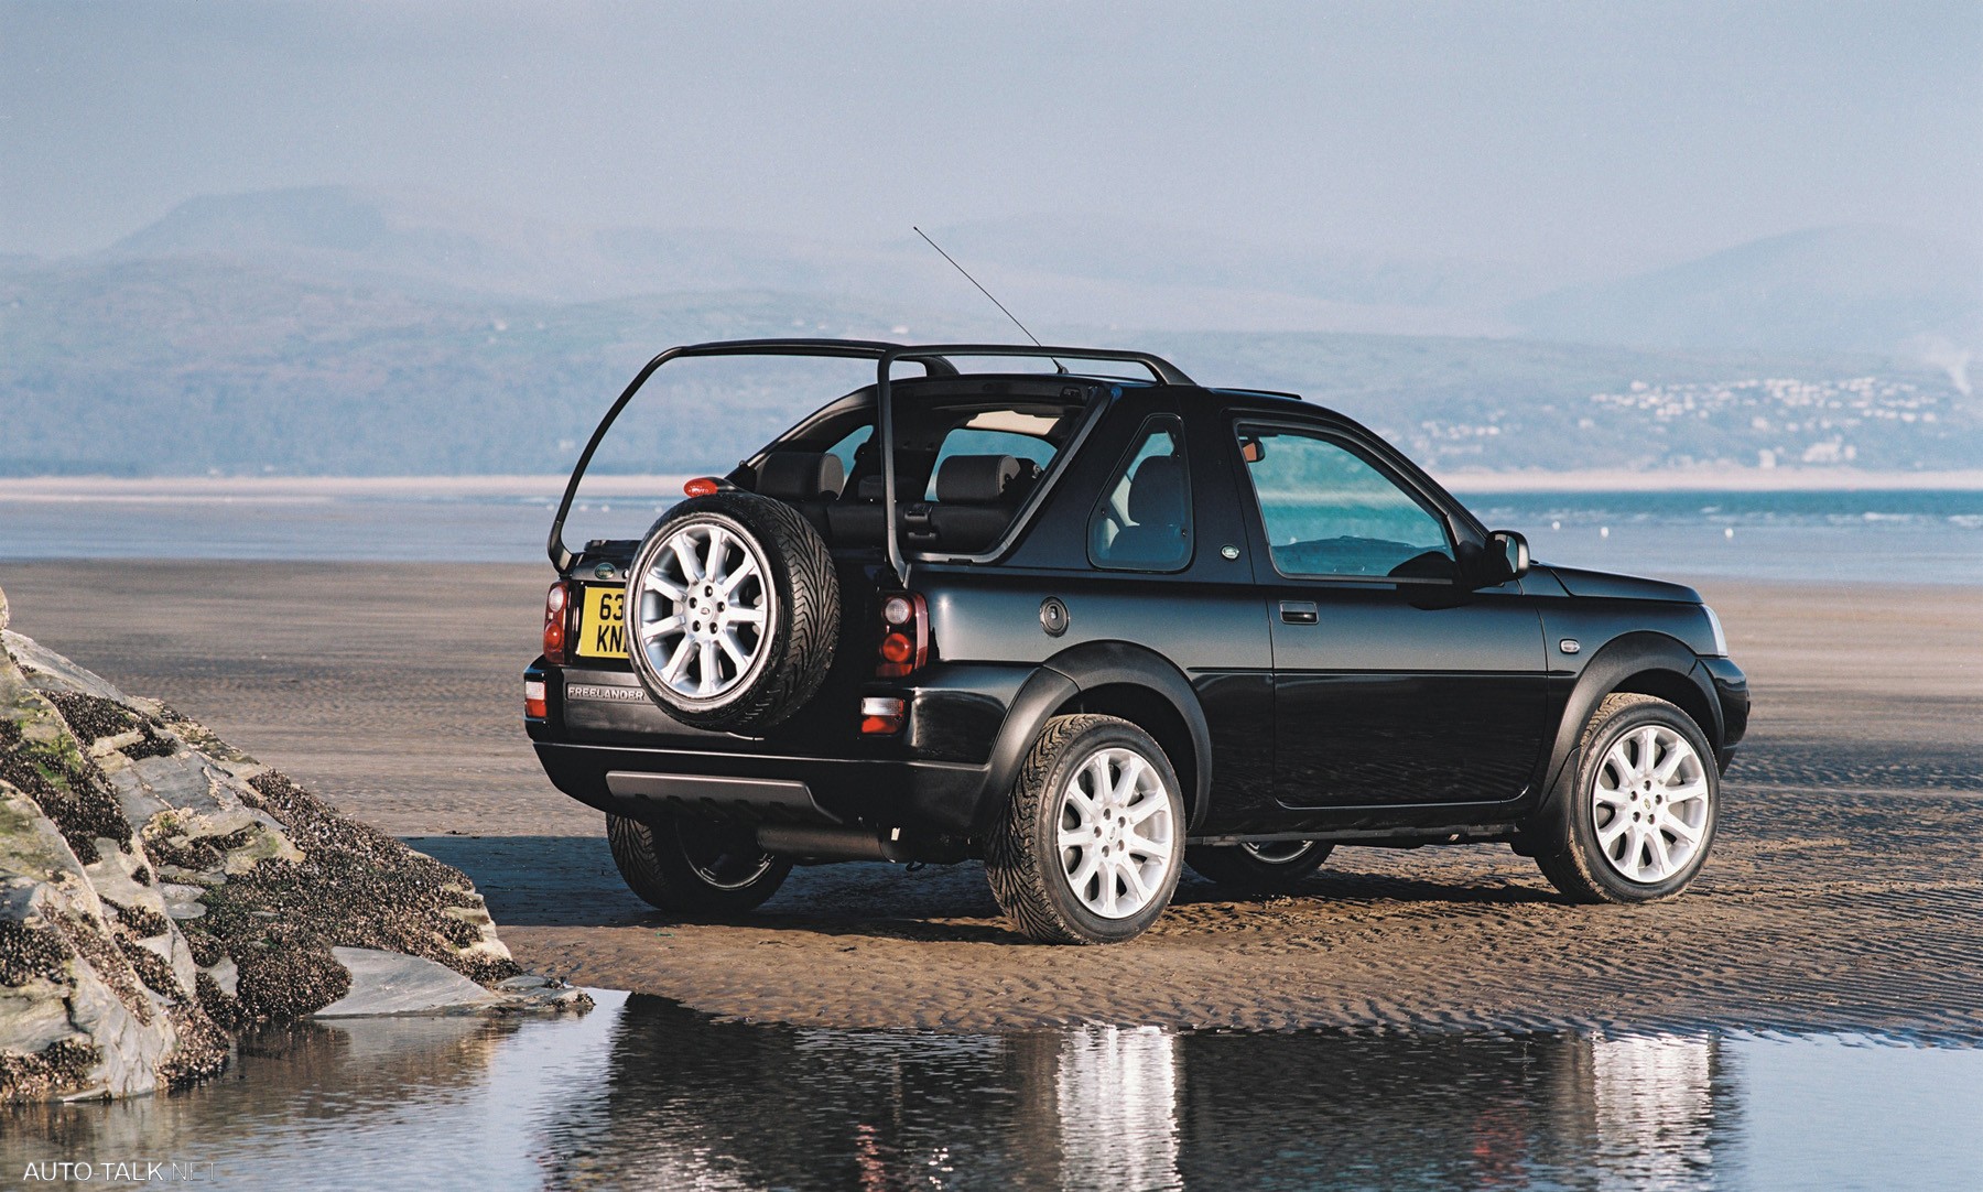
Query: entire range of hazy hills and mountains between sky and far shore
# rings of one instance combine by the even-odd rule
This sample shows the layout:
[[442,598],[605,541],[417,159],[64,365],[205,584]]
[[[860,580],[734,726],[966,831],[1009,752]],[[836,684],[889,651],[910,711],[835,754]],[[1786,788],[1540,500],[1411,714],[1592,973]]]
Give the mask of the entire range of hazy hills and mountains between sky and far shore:
[[[932,232],[1047,339],[1293,389],[1440,468],[1983,462],[1975,256],[1912,234],[1781,236],[1509,315],[1533,280],[1507,266],[1118,220]],[[1501,337],[1513,319],[1533,337]],[[0,256],[0,472],[557,472],[654,351],[787,333],[1017,335],[912,236],[573,230],[347,186],[198,198],[105,252]],[[865,381],[728,369],[670,369],[603,464],[724,466]]]

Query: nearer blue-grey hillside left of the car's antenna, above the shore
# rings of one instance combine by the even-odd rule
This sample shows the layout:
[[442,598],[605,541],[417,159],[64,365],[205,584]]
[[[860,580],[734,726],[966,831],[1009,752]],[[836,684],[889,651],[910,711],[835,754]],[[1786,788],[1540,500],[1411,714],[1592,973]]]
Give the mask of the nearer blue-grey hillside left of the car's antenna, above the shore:
[[[557,472],[662,347],[892,327],[750,292],[551,305],[438,301],[210,258],[54,268],[0,278],[0,472]],[[710,365],[670,375],[698,369]],[[759,367],[722,401],[678,383],[674,420],[646,432],[629,420],[639,462],[738,458],[831,397],[793,375]]]

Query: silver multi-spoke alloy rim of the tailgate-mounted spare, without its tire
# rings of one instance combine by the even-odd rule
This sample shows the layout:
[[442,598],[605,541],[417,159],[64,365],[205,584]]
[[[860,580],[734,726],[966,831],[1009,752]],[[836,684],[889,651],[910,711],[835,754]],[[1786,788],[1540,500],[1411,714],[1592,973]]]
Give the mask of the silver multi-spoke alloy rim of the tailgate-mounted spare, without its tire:
[[732,692],[771,639],[758,543],[714,520],[684,522],[642,563],[631,629],[654,678],[690,700]]

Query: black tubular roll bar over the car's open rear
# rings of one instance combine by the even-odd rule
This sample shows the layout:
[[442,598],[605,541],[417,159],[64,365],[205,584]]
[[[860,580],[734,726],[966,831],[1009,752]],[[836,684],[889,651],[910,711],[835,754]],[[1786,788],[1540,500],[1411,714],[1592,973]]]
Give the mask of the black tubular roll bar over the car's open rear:
[[1150,377],[1164,385],[1192,385],[1170,361],[1150,355],[1146,351],[1114,351],[1114,349],[1091,349],[1091,347],[1019,347],[1011,343],[950,343],[950,345],[904,345],[904,343],[882,343],[878,339],[720,339],[712,343],[684,343],[680,347],[670,347],[668,351],[646,361],[646,365],[635,373],[635,379],[627,383],[627,389],[619,395],[619,401],[607,409],[605,418],[593,430],[593,436],[585,440],[585,450],[579,452],[577,466],[571,468],[571,480],[565,482],[565,496],[557,502],[557,516],[551,520],[551,536],[545,543],[545,551],[551,555],[551,565],[563,575],[571,569],[571,561],[577,557],[565,547],[565,518],[571,514],[571,502],[579,494],[579,482],[585,478],[585,470],[593,462],[593,452],[599,450],[599,442],[605,440],[607,430],[627,409],[646,379],[652,377],[668,361],[682,357],[712,357],[712,355],[797,355],[797,357],[819,357],[819,359],[871,359],[876,363],[878,385],[875,393],[876,420],[875,432],[880,438],[880,458],[882,458],[882,514],[886,526],[888,543],[888,563],[894,567],[896,579],[908,579],[908,565],[902,561],[902,545],[896,541],[894,532],[894,450],[890,450],[894,434],[894,407],[888,387],[890,365],[896,361],[908,361],[922,365],[928,377],[956,377],[958,367],[950,363],[948,357],[1069,357],[1087,361],[1126,361],[1142,365],[1150,371]]

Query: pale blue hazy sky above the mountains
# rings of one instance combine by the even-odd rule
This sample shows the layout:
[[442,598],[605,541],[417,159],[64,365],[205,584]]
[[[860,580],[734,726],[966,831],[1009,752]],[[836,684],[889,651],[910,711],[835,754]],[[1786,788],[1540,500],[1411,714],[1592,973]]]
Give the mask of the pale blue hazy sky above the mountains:
[[825,240],[1103,214],[1612,274],[1983,240],[1983,4],[0,0],[0,252],[430,188]]

